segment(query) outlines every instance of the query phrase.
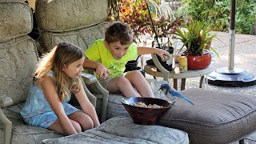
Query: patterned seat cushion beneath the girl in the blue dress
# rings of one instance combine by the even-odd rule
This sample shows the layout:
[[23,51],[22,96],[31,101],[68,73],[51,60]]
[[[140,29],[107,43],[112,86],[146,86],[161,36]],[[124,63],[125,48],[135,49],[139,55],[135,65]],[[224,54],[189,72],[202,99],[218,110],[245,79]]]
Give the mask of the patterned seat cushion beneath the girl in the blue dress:
[[[27,126],[20,114],[22,104],[9,106],[2,109],[6,117],[10,119],[13,124],[11,143],[41,143],[42,139],[59,138],[61,134],[53,130],[47,130],[37,126]],[[4,126],[0,122],[0,143],[3,143]]]

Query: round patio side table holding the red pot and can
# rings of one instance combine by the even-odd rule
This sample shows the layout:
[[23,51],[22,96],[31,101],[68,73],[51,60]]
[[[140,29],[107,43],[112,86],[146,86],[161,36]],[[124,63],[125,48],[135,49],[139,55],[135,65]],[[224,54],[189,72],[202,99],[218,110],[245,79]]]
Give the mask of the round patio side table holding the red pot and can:
[[[146,74],[150,74],[154,77],[162,77],[164,78],[165,75],[161,72],[157,70],[157,67],[154,65],[146,65],[144,66],[144,71],[146,72]],[[200,81],[199,81],[199,87],[202,88],[202,82],[204,82],[205,76],[207,74],[210,74],[211,72],[214,71],[214,67],[213,66],[208,66],[206,69],[202,69],[202,70],[188,70],[187,72],[181,73],[179,71],[179,67],[177,64],[175,64],[174,70],[171,70],[169,72],[168,78],[173,78],[174,79],[174,89],[178,90],[178,82],[177,80],[179,78],[182,79],[182,84],[181,84],[181,90],[185,90],[185,86],[186,86],[186,78],[195,78],[195,77],[201,77]],[[169,81],[169,79],[164,79],[166,81]]]

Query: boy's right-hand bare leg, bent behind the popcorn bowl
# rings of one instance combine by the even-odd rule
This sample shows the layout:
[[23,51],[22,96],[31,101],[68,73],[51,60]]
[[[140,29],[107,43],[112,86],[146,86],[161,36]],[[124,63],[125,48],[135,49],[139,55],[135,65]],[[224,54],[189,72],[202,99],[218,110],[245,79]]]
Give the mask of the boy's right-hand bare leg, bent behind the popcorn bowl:
[[136,87],[138,93],[142,97],[154,98],[153,91],[150,88],[150,84],[146,81],[146,78],[138,70],[129,71],[126,73],[125,77],[130,81],[130,83]]

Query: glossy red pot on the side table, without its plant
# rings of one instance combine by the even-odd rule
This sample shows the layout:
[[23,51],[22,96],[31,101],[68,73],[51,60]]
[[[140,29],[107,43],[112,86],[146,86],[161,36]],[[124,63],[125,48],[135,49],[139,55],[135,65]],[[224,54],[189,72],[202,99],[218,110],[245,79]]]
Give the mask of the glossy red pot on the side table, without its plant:
[[202,70],[206,69],[211,62],[209,50],[206,50],[204,55],[187,55],[187,68],[189,70]]

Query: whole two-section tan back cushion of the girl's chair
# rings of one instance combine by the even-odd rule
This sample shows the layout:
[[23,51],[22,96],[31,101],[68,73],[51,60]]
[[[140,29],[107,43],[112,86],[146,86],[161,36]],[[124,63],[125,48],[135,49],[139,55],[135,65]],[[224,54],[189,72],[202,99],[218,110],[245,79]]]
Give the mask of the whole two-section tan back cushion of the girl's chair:
[[38,54],[32,30],[30,7],[19,2],[0,2],[0,96],[14,104],[28,95]]

